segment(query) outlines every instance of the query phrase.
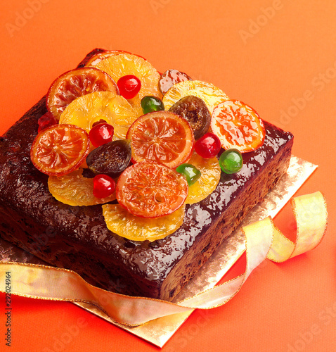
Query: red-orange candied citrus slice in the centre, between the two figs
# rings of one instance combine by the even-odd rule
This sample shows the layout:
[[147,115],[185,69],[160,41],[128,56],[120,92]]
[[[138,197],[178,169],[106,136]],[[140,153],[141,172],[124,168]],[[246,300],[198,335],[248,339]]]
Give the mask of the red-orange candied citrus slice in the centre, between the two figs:
[[157,161],[176,168],[193,152],[193,130],[188,121],[169,111],[140,116],[127,132],[131,139],[132,160]]

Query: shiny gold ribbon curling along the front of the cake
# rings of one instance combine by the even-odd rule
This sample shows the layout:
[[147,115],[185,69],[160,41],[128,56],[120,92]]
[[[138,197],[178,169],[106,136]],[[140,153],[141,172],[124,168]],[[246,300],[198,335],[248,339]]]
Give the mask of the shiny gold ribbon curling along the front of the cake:
[[328,222],[326,203],[321,192],[291,199],[291,204],[297,221],[295,243],[277,229],[271,218],[243,227],[247,258],[245,273],[179,303],[115,294],[91,286],[71,270],[23,263],[0,263],[0,291],[6,291],[6,272],[11,272],[11,294],[89,303],[115,322],[127,326],[141,325],[195,308],[218,307],[238,293],[252,270],[265,258],[283,262],[314,249],[321,242]]

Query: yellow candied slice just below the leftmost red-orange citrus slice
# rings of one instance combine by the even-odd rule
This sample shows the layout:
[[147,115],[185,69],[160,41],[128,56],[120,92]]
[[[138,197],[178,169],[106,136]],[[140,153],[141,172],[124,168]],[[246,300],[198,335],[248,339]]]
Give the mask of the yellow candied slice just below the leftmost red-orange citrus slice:
[[58,201],[69,206],[95,206],[115,200],[115,193],[106,198],[93,196],[93,178],[82,175],[83,169],[48,180],[49,191]]

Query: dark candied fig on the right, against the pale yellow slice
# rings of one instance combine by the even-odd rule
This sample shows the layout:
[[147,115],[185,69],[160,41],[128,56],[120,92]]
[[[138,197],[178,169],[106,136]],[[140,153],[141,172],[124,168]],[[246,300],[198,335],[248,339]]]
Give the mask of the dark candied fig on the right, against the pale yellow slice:
[[211,115],[205,102],[197,96],[183,96],[169,111],[182,116],[188,122],[194,132],[195,139],[199,139],[207,133],[210,127]]

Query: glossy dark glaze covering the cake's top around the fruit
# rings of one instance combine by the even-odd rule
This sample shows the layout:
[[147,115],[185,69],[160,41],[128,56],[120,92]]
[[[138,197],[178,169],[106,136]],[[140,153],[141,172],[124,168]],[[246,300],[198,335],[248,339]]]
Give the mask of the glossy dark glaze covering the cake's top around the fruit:
[[[278,149],[292,139],[292,134],[265,121],[263,146],[257,151],[244,153],[242,170],[234,175],[222,174],[217,189],[206,199],[186,206],[186,215],[179,230],[152,243],[137,242],[110,232],[101,206],[67,206],[51,196],[48,177],[34,168],[30,161],[30,147],[37,135],[37,120],[45,112],[43,98],[0,139],[0,204],[4,214],[11,216],[15,213],[13,217],[21,217],[25,232],[30,234],[45,232],[48,228],[54,230],[55,234],[49,237],[40,256],[51,264],[78,271],[75,263],[60,263],[59,258],[65,254],[72,258],[74,253],[83,253],[87,258],[96,258],[103,266],[110,265],[110,270],[115,268],[125,277],[136,277],[146,285],[153,282],[155,286],[160,286],[183,254],[230,206],[242,187],[250,184],[254,175],[264,168]],[[100,277],[96,279],[107,286]]]

